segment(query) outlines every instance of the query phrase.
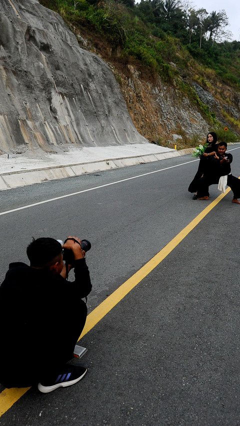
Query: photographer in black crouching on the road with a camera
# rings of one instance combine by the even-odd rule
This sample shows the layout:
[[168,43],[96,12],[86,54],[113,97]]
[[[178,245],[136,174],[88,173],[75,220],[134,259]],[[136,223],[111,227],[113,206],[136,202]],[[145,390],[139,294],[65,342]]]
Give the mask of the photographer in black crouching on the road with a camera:
[[[70,254],[71,264],[64,264]],[[77,237],[63,246],[37,238],[26,249],[30,266],[10,263],[0,286],[0,383],[5,387],[37,384],[41,392],[79,381],[87,369],[67,363],[84,327],[82,298],[91,291],[85,251]],[[74,267],[74,281],[67,281]]]

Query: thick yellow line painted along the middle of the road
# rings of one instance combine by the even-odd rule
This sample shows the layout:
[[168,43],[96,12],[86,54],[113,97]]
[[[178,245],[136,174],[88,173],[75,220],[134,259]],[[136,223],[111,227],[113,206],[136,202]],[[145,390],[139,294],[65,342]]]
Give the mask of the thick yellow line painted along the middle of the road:
[[[84,329],[79,339],[90,331],[123,297],[129,293],[145,276],[147,276],[181,241],[186,235],[218,204],[218,202],[230,191],[227,188],[225,193],[220,194],[210,204],[208,204],[188,225],[186,225],[168,244],[166,244],[155,256],[153,256],[144,266],[134,273],[129,279],[120,285],[103,302],[93,309],[86,318]],[[197,201],[196,201],[197,202]],[[204,201],[202,201],[204,202]],[[4,389],[0,393],[0,416],[4,414],[24,393],[29,389],[11,388]]]

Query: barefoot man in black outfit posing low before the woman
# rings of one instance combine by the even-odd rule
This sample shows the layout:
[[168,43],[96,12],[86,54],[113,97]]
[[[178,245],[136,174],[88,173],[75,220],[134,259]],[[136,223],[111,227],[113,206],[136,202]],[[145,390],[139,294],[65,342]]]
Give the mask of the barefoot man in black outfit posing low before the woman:
[[233,192],[232,202],[240,204],[240,201],[237,199],[240,197],[240,180],[231,174],[230,163],[232,162],[232,155],[226,152],[226,149],[226,142],[218,143],[216,154],[211,156],[203,176],[197,180],[197,199],[209,199],[209,185],[218,183],[221,176],[227,175],[226,184]]

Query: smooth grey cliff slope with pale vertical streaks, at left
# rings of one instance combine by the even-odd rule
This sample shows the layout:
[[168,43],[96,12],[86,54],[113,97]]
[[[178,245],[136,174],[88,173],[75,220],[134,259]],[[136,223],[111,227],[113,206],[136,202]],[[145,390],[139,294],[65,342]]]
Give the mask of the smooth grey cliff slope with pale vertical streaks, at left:
[[37,0],[0,0],[0,152],[144,143],[108,65]]

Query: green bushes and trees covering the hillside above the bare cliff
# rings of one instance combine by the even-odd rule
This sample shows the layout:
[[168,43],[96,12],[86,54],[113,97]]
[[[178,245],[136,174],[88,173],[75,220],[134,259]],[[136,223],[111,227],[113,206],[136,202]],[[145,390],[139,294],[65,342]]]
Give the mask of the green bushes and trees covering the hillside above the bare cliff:
[[[112,57],[117,52],[119,61],[140,63],[143,77],[144,72],[153,79],[160,75],[187,94],[214,128],[218,126],[214,113],[201,102],[188,77],[210,92],[219,83],[236,92],[240,89],[240,42],[227,41],[224,10],[186,9],[177,0],[40,2],[80,31],[87,28],[100,35],[110,44]],[[226,112],[225,118],[240,131],[239,120]]]

